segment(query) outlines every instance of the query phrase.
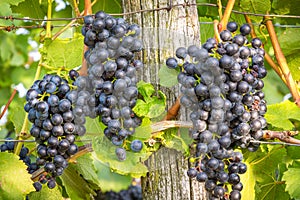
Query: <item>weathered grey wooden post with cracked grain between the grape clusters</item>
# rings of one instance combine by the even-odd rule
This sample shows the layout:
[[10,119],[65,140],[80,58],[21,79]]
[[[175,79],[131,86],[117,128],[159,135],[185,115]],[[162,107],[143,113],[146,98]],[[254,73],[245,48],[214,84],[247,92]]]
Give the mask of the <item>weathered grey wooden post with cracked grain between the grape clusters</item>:
[[[168,106],[171,106],[180,93],[179,87],[161,87],[158,84],[158,71],[166,58],[174,56],[178,47],[200,44],[197,7],[184,6],[196,3],[196,0],[122,0],[122,3],[124,13],[182,4],[170,9],[125,16],[128,21],[142,27],[144,50],[141,58],[145,67],[140,79],[151,82],[156,89],[162,90],[167,95]],[[184,109],[180,110],[179,118],[187,120]],[[203,185],[187,177],[187,159],[176,150],[162,148],[153,154],[146,164],[149,173],[142,179],[144,199],[206,199]]]

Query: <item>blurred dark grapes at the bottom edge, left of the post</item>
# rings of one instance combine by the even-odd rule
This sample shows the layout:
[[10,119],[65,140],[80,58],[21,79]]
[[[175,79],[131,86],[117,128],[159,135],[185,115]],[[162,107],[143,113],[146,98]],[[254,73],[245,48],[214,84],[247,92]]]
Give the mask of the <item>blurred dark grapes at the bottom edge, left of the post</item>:
[[142,188],[140,186],[131,185],[127,190],[120,192],[106,192],[105,200],[142,200]]

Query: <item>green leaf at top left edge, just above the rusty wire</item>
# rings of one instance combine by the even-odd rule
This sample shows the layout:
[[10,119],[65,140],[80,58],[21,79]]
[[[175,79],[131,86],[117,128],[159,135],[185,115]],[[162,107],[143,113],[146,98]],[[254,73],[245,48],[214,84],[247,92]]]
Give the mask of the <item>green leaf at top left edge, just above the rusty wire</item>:
[[40,1],[26,0],[11,8],[14,13],[20,13],[24,17],[43,19],[47,13],[46,5],[47,2],[40,4]]

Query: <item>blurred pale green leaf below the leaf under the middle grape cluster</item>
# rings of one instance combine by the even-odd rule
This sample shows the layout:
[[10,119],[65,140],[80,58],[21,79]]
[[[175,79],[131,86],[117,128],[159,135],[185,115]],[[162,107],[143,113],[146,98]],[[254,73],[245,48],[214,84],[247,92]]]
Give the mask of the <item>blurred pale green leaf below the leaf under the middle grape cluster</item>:
[[117,174],[110,170],[110,167],[99,159],[94,159],[93,162],[96,167],[98,175],[99,186],[102,192],[115,191],[127,189],[131,184],[131,176],[124,176]]

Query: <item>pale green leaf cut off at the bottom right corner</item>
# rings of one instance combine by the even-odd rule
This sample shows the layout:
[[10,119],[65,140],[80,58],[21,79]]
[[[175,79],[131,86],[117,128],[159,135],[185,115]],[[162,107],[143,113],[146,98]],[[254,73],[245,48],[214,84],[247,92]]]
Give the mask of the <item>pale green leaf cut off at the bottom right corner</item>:
[[286,191],[291,195],[292,198],[299,199],[300,198],[300,168],[288,168],[286,172],[284,172],[282,180],[285,181]]

